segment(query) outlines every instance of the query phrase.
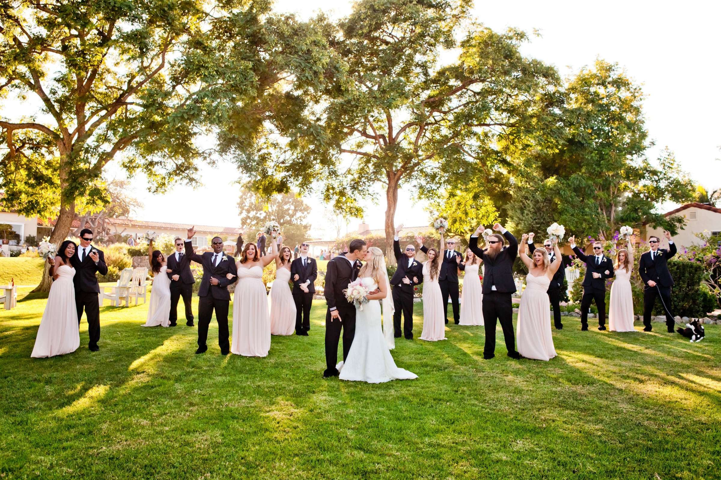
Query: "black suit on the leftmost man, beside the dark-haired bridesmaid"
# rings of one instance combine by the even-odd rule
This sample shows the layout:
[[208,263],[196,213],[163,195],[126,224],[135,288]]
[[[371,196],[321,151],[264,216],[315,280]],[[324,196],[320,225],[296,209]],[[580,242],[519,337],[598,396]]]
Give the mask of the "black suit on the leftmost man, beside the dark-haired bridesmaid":
[[[92,261],[89,253],[97,252],[97,264]],[[93,349],[97,347],[100,340],[100,303],[99,296],[100,286],[97,284],[96,272],[100,275],[107,274],[107,266],[105,265],[105,254],[102,250],[90,245],[88,254],[84,255],[84,260],[80,260],[80,255],[84,255],[82,247],[78,248],[70,258],[70,264],[75,268],[75,276],[73,277],[73,285],[75,287],[75,307],[78,312],[78,326],[85,309],[85,317],[88,321],[88,335],[90,340],[88,347]]]

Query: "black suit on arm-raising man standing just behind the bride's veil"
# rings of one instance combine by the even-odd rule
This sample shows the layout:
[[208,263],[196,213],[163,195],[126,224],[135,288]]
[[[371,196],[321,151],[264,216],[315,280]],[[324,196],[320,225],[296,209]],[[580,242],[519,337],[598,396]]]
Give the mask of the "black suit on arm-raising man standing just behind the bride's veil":
[[[393,274],[393,327],[394,336],[401,336],[401,311],[403,312],[403,335],[407,339],[413,338],[413,287],[423,283],[423,263],[413,258],[408,266],[408,257],[401,252],[399,240],[393,240],[393,253],[396,255],[398,268]],[[410,280],[404,284],[403,279]],[[414,280],[415,279],[415,280]]]

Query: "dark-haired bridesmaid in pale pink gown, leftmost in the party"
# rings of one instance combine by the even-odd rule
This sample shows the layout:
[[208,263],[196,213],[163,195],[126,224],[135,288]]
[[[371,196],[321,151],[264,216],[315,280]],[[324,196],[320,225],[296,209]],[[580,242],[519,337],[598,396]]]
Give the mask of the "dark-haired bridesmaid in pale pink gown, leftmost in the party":
[[37,328],[31,357],[65,355],[80,346],[78,310],[75,307],[73,285],[75,268],[70,266],[70,258],[75,255],[76,248],[74,242],[65,240],[60,245],[56,258],[53,260],[48,257],[50,276],[56,280],[50,286],[48,303],[45,304],[43,320],[40,320],[40,327]]

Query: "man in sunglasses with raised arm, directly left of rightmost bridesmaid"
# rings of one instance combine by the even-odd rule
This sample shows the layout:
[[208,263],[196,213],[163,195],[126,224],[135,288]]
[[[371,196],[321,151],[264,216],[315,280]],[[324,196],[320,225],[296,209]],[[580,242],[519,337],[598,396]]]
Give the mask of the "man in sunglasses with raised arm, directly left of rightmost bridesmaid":
[[586,264],[586,273],[583,277],[583,296],[581,296],[581,330],[588,330],[588,308],[591,302],[596,302],[598,308],[598,330],[606,330],[606,279],[614,277],[614,262],[603,255],[603,244],[593,243],[593,255],[586,255],[576,246],[576,237],[570,237],[568,242],[580,261]]

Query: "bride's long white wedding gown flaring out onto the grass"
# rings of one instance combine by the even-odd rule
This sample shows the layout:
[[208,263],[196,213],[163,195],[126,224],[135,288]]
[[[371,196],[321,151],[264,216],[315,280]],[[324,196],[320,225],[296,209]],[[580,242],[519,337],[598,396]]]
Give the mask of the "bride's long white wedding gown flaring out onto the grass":
[[[373,279],[363,277],[368,289],[378,288]],[[398,368],[381,329],[381,302],[371,300],[355,309],[355,336],[345,363],[337,365],[341,380],[382,384],[391,380],[417,379],[415,373]]]

